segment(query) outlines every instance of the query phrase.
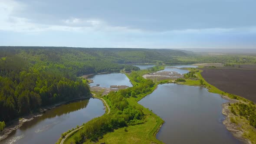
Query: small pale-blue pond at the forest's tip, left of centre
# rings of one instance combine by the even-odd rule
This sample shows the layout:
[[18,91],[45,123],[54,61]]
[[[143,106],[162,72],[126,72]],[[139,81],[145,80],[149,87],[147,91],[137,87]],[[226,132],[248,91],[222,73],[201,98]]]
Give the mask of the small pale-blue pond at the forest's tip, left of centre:
[[110,85],[127,85],[132,87],[130,80],[123,73],[109,73],[92,75],[89,79],[93,80],[90,86],[96,86],[99,84],[100,87],[109,88]]

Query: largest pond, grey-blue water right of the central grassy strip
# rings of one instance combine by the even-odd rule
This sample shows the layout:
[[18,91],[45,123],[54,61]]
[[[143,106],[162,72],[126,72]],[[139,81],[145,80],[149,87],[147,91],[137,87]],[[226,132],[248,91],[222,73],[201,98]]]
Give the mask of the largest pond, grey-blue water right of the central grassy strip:
[[157,138],[166,144],[240,144],[222,123],[224,102],[206,88],[163,84],[138,103],[165,121]]

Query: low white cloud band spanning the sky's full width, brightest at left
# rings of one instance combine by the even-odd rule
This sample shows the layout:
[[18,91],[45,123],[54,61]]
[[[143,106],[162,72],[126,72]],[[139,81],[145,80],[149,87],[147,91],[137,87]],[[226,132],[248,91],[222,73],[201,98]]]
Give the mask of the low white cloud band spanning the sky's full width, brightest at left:
[[127,26],[110,26],[105,21],[99,19],[82,19],[71,17],[61,20],[59,24],[39,24],[33,23],[25,17],[18,17],[13,13],[26,11],[26,5],[14,0],[0,0],[0,30],[23,33],[38,33],[43,31],[72,31],[72,32],[102,32],[102,33],[137,33],[137,34],[212,34],[212,33],[256,33],[256,26],[241,28],[210,28],[210,29],[181,29],[171,31],[149,31],[134,29]]

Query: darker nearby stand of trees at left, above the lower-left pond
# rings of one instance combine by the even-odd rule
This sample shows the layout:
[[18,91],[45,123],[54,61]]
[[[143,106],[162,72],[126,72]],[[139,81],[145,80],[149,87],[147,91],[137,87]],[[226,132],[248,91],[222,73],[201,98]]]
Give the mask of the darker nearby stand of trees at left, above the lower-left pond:
[[16,56],[0,60],[0,121],[10,121],[40,106],[89,95],[89,86],[65,69],[29,65]]

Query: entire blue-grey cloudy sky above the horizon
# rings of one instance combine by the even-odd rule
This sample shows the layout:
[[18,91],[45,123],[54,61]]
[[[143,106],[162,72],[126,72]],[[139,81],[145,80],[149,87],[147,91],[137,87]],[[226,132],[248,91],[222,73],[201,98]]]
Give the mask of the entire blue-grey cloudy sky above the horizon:
[[0,46],[256,49],[256,0],[0,0]]

